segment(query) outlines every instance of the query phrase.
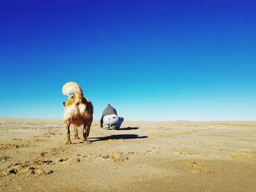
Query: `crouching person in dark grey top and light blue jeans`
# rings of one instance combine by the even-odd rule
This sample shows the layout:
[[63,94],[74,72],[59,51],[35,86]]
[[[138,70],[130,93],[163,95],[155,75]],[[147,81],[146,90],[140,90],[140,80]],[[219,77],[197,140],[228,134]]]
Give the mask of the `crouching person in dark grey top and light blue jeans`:
[[116,109],[108,104],[108,106],[102,112],[102,118],[100,118],[100,127],[102,128],[104,125],[106,128],[119,129],[123,121],[124,118],[118,117]]

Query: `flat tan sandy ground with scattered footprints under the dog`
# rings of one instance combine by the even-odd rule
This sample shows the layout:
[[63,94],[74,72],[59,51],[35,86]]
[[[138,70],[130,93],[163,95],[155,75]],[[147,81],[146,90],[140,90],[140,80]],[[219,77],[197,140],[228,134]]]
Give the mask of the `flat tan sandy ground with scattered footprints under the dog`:
[[72,145],[64,134],[61,120],[0,119],[0,191],[256,191],[256,122],[94,121],[91,143]]

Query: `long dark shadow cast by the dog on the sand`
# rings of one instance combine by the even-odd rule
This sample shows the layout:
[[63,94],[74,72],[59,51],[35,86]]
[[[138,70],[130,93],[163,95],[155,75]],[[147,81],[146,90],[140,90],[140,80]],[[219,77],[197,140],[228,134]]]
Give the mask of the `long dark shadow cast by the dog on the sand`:
[[106,141],[109,139],[145,139],[147,136],[138,136],[138,134],[115,134],[106,137],[90,137],[90,142]]

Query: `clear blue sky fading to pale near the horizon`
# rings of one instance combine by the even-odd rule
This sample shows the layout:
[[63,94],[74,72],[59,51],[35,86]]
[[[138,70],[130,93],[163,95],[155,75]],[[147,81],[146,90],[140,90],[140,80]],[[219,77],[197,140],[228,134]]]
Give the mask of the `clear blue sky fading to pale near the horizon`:
[[254,1],[2,1],[0,118],[256,120]]

